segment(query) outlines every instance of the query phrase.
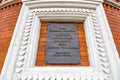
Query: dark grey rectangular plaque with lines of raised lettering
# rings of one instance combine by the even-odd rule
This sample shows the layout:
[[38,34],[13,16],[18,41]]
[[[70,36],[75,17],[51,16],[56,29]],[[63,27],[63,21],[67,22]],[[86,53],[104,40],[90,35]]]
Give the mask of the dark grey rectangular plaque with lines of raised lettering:
[[79,64],[80,51],[75,24],[48,24],[47,64]]

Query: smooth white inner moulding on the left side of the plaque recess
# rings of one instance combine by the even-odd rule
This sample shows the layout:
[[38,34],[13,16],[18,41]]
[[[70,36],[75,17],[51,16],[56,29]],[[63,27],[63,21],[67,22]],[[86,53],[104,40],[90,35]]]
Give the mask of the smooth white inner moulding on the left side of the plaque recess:
[[33,67],[35,65],[36,56],[37,56],[37,48],[38,48],[38,41],[39,41],[39,34],[40,34],[40,20],[37,16],[33,19],[33,27],[31,31],[31,39],[29,41],[28,47],[28,57],[26,62],[26,67]]

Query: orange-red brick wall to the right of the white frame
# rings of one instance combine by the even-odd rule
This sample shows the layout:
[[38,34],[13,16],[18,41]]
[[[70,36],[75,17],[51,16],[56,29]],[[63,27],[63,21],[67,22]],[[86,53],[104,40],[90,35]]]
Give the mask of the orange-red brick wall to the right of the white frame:
[[120,56],[120,7],[107,1],[103,6]]

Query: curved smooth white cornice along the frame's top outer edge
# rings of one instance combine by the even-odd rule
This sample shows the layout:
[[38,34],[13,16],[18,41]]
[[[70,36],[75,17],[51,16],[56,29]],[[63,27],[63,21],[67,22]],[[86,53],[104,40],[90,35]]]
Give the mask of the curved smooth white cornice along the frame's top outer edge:
[[[62,3],[62,5],[61,5]],[[94,2],[94,1],[89,1],[89,0],[35,0],[35,1],[28,1],[28,2],[23,2],[23,4],[26,4],[30,9],[35,9],[38,7],[84,7],[84,8],[89,8],[89,9],[95,9],[98,5],[100,5],[100,2]],[[42,5],[38,5],[42,4]],[[81,4],[81,5],[79,5]],[[90,7],[89,7],[90,6]]]

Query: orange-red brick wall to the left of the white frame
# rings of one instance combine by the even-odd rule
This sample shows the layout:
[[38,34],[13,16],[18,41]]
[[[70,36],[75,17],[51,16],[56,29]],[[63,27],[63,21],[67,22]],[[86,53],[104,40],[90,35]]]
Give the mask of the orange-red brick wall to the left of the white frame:
[[6,57],[21,5],[20,1],[17,0],[0,7],[0,72]]

